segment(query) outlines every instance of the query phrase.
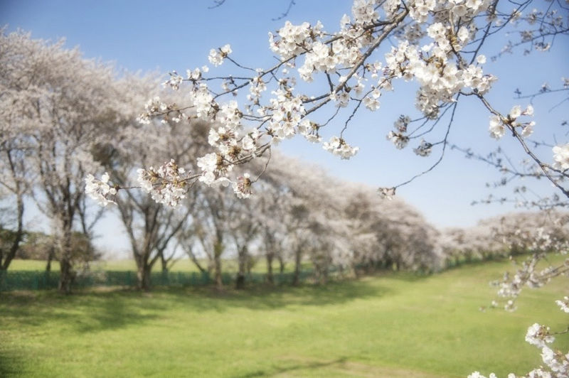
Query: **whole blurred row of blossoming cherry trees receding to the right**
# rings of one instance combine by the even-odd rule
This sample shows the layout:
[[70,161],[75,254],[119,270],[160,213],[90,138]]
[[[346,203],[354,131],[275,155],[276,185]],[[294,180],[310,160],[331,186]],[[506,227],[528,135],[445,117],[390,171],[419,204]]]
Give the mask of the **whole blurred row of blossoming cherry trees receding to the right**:
[[[105,211],[122,222],[143,290],[149,290],[157,264],[167,271],[180,254],[210,273],[218,287],[224,261],[236,259],[240,288],[255,261],[266,264],[269,283],[275,265],[281,272],[291,265],[298,283],[307,261],[325,282],[332,266],[356,276],[376,269],[437,271],[542,248],[535,244],[539,232],[555,235],[555,242],[567,239],[566,215],[553,212],[540,217],[555,222],[521,213],[470,229],[437,230],[401,200],[381,200],[372,188],[286,156],[268,167],[266,158],[253,161],[252,171],[262,175],[252,198],[235,198],[222,185],[196,184],[185,188],[178,207],[156,203],[142,190],[119,190],[116,204],[99,207],[85,198],[87,173],[107,172],[124,188],[137,175],[132,167],[170,158],[199,171],[195,162],[208,151],[210,125],[179,118],[140,124],[145,99],[160,95],[167,103],[184,103],[183,95],[161,92],[151,75],[117,75],[111,65],[86,60],[63,42],[2,31],[0,71],[0,268],[8,269],[15,257],[45,259],[47,269],[57,260],[64,293],[75,272],[99,256],[92,240]],[[32,202],[50,233],[25,229]]]

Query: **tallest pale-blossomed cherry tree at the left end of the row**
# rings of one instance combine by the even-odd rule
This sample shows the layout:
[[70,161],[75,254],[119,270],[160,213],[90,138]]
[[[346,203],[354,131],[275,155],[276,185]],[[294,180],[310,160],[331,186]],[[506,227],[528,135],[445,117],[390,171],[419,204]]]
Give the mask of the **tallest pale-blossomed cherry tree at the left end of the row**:
[[76,258],[72,237],[85,211],[83,180],[100,169],[92,151],[130,118],[120,101],[122,88],[110,65],[63,49],[63,41],[46,43],[2,30],[0,46],[2,167],[3,174],[11,174],[4,186],[16,196],[18,229],[25,193],[53,222],[60,291],[69,293]]

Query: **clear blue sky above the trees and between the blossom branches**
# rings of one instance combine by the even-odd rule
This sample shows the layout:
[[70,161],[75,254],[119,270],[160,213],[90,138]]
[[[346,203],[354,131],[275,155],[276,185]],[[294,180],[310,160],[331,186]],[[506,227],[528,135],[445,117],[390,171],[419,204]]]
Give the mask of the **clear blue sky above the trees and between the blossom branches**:
[[[262,68],[275,61],[268,48],[268,31],[277,30],[286,19],[313,24],[320,20],[327,31],[336,31],[339,19],[344,13],[349,14],[351,8],[349,0],[295,2],[285,19],[275,21],[287,9],[289,0],[226,0],[215,9],[209,9],[213,0],[0,0],[0,25],[8,24],[8,31],[16,28],[31,31],[33,38],[52,41],[66,38],[66,45],[79,46],[86,58],[113,61],[117,68],[129,71],[185,72],[207,64],[208,51],[225,43],[232,46],[233,58]],[[495,55],[504,43],[505,40],[491,44],[483,53]],[[508,112],[514,104],[525,106],[528,99],[516,100],[514,90],[536,92],[543,82],[560,87],[560,77],[569,77],[568,63],[567,38],[558,38],[548,53],[533,53],[528,57],[506,55],[496,63],[489,62],[485,72],[499,77],[490,98],[503,112]],[[225,65],[222,67],[223,72],[230,72]],[[340,161],[300,138],[282,144],[282,150],[321,164],[331,175],[376,187],[392,186],[410,178],[435,161],[438,151],[430,159],[419,158],[411,148],[398,151],[385,140],[399,114],[416,115],[413,87],[395,89],[381,97],[378,112],[362,112],[345,134],[351,144],[361,148],[350,161]],[[534,100],[536,139],[551,141],[555,134],[558,144],[568,141],[566,131],[560,131],[559,125],[562,119],[569,118],[569,104],[565,102],[552,110],[557,101],[554,97]],[[519,148],[507,138],[502,141],[489,138],[488,119],[476,102],[461,104],[450,141],[480,153],[497,146],[514,147],[510,153],[514,161],[523,158],[515,152]],[[336,134],[343,123],[344,119],[339,119],[333,126]],[[551,150],[543,153],[551,161]],[[483,217],[513,209],[511,205],[470,205],[472,200],[491,193],[486,183],[499,177],[484,163],[448,151],[435,171],[400,188],[398,195],[417,207],[434,225],[469,226]],[[546,183],[530,184],[539,190],[549,188]],[[511,193],[511,188],[500,193]]]

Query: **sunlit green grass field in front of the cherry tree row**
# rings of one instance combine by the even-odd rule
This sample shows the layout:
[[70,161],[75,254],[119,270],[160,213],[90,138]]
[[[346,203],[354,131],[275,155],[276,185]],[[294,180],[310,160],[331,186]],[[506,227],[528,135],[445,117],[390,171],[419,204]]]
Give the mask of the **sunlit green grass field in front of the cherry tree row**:
[[[0,377],[499,377],[541,361],[534,322],[567,326],[566,279],[488,309],[507,263],[326,286],[0,294]],[[569,348],[560,338],[556,347]]]

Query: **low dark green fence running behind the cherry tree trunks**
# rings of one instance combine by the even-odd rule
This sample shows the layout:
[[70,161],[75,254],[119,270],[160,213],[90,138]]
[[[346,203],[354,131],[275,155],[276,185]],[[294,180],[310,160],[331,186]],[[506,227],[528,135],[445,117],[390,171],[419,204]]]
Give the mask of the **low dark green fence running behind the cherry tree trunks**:
[[[299,281],[305,282],[312,279],[312,271],[301,271]],[[263,273],[252,273],[245,276],[248,283],[262,283],[267,279]],[[276,285],[292,284],[294,273],[277,273],[273,275]],[[213,284],[213,277],[200,272],[155,272],[151,274],[153,286],[205,286]],[[235,283],[235,274],[224,273],[222,275],[224,285]],[[12,290],[44,290],[57,288],[59,272],[52,271],[0,271],[0,291]],[[73,281],[75,288],[87,288],[94,286],[136,286],[137,273],[135,271],[92,271],[89,274],[78,275]]]

